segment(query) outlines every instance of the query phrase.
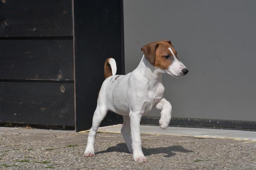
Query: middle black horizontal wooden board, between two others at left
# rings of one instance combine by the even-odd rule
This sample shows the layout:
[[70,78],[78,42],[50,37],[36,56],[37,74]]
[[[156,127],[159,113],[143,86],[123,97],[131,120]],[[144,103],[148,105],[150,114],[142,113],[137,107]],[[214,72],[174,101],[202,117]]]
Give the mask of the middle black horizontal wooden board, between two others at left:
[[0,79],[73,80],[73,40],[0,40]]

